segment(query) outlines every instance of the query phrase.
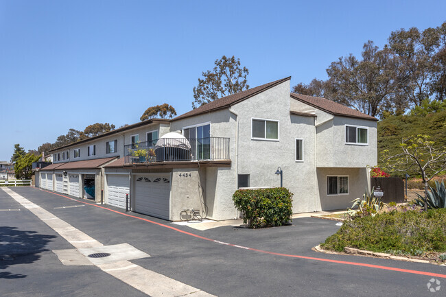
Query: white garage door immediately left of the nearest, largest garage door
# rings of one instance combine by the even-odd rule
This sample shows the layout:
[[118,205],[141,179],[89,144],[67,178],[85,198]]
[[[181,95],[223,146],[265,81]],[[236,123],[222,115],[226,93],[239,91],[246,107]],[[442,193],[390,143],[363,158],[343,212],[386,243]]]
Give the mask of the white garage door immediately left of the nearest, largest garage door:
[[130,193],[128,174],[106,174],[107,177],[107,204],[126,208],[126,194]]

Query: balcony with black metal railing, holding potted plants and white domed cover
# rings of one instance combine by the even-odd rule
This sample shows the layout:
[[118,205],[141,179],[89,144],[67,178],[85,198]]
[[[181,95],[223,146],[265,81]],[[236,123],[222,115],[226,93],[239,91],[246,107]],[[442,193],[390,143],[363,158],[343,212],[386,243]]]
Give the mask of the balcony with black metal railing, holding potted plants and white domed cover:
[[215,161],[229,159],[229,139],[161,138],[124,145],[125,164],[168,161]]

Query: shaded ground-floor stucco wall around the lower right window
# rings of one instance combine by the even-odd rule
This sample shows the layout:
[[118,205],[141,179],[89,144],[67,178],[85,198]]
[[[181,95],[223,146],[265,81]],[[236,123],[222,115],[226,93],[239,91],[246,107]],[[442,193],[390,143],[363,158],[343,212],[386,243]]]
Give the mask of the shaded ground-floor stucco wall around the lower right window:
[[[318,168],[318,210],[347,209],[368,187],[366,168]],[[348,195],[327,195],[327,176],[349,176]]]

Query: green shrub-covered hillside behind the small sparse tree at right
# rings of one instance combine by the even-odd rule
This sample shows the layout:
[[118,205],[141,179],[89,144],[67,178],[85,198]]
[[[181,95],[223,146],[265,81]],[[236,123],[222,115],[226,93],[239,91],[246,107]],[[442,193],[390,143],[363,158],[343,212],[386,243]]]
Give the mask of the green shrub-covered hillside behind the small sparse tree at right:
[[[434,112],[424,117],[416,115],[390,116],[378,122],[378,166],[381,167],[381,152],[389,150],[390,154],[401,152],[399,143],[403,137],[417,134],[432,136],[436,147],[446,147],[446,110]],[[415,172],[408,172],[416,176]],[[392,173],[403,176],[404,173]]]

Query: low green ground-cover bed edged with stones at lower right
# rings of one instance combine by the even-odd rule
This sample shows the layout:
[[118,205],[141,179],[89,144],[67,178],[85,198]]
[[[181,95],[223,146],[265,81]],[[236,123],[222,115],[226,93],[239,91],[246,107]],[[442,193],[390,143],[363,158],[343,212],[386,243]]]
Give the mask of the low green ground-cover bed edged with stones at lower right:
[[401,254],[446,252],[446,209],[390,212],[345,220],[337,233],[322,243],[329,250],[344,247]]

